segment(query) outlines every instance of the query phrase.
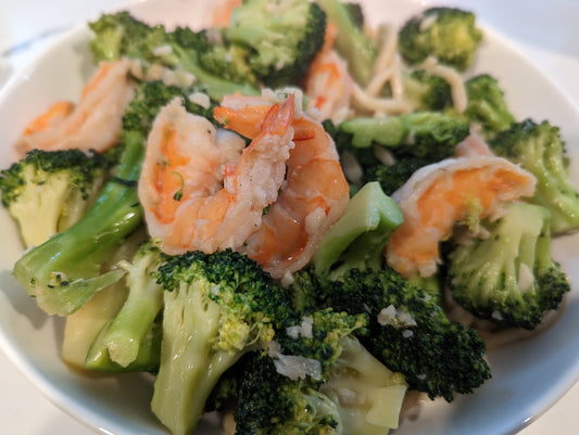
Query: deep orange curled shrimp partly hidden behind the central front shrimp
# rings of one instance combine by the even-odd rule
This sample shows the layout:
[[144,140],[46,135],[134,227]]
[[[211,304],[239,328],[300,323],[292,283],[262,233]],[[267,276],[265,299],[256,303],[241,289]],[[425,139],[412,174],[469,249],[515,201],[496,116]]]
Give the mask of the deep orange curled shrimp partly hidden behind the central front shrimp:
[[[251,103],[247,110],[243,102]],[[266,100],[254,104],[252,98],[228,97],[215,110],[215,117],[226,119],[227,128],[252,137],[259,131],[260,112],[272,104]],[[335,143],[323,126],[303,112],[295,114],[292,126],[295,146],[287,161],[279,196],[267,207],[257,231],[239,248],[274,278],[284,278],[307,264],[349,202],[349,188]]]

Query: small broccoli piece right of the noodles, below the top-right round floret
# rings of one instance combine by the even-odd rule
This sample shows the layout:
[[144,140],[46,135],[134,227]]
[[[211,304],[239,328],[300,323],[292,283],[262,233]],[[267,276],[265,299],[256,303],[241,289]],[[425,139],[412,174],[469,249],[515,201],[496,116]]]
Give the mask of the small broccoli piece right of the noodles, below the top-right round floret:
[[444,111],[452,106],[451,86],[440,76],[424,69],[402,72],[404,98],[416,111]]

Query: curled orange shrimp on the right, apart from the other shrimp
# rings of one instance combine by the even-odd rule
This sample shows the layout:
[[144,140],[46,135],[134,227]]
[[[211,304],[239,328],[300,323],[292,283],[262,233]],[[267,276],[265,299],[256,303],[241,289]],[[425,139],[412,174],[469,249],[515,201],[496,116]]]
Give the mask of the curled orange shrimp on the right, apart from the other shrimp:
[[532,196],[536,178],[502,157],[448,158],[418,169],[392,197],[404,222],[386,246],[390,267],[405,277],[437,271],[439,242],[473,213],[498,216],[503,203]]

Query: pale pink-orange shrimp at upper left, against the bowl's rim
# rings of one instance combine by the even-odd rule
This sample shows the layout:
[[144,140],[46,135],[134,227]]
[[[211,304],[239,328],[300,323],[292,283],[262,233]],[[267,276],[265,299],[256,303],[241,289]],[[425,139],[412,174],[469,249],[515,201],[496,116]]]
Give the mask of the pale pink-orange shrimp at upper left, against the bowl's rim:
[[33,149],[91,149],[101,152],[117,143],[123,112],[134,97],[129,60],[102,62],[75,106],[59,101],[34,119],[16,141],[21,154]]

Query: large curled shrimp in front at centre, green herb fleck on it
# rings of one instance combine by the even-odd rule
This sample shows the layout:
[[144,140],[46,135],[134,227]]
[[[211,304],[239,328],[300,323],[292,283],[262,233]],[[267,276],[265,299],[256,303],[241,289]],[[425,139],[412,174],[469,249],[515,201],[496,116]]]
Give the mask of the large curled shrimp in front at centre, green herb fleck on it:
[[182,254],[239,247],[276,201],[293,148],[293,98],[273,105],[263,130],[244,148],[176,99],[163,107],[148,139],[139,199],[161,250]]

